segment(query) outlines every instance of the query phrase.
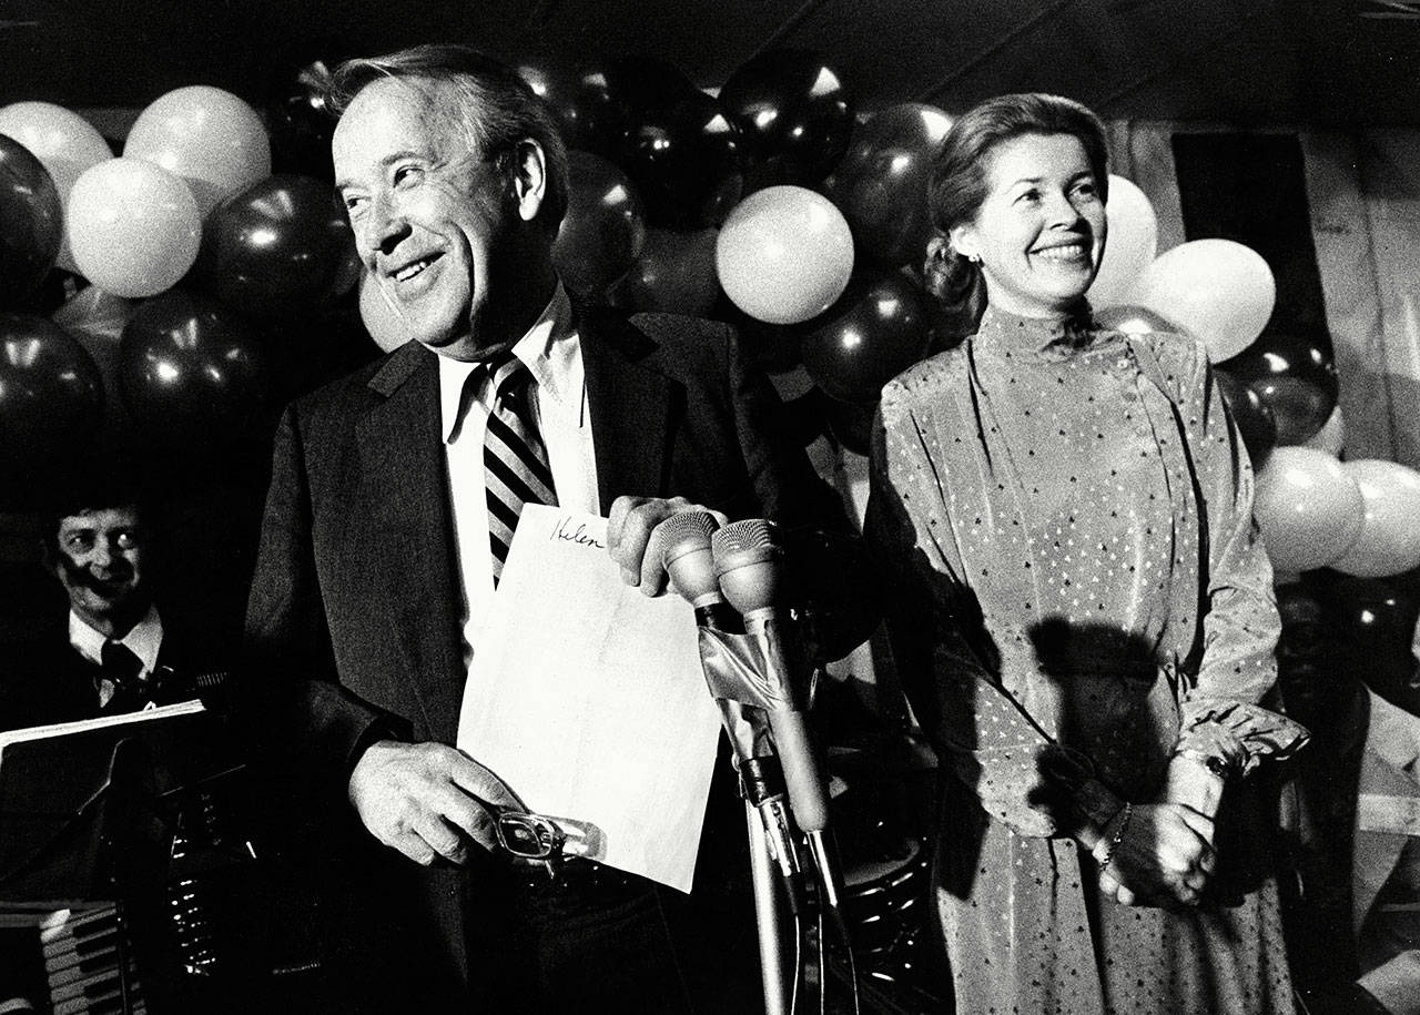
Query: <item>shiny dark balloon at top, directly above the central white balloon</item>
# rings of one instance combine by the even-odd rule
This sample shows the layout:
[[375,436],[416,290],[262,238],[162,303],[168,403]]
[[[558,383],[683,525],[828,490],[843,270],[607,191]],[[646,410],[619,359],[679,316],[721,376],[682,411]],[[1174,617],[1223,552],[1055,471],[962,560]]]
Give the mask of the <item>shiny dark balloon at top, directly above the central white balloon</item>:
[[736,70],[720,108],[740,128],[751,190],[812,185],[848,150],[853,101],[838,74],[808,50],[767,50]]

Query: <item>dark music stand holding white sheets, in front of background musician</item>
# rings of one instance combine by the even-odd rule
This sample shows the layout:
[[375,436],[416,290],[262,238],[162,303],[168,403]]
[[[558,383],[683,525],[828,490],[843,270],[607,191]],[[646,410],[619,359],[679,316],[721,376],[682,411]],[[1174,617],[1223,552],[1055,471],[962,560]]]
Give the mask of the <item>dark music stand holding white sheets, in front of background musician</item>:
[[0,734],[0,909],[115,903],[122,1011],[133,1011],[124,926],[145,1004],[173,997],[162,887],[172,798],[223,767],[224,738],[197,703]]

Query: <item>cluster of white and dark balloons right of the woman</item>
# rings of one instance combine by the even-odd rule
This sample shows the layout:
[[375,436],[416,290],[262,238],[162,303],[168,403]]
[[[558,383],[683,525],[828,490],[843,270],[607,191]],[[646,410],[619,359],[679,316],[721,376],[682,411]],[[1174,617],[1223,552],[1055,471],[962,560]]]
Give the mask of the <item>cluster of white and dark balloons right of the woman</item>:
[[1252,512],[1274,568],[1373,579],[1420,566],[1420,471],[1340,460],[1329,339],[1267,329],[1277,300],[1267,261],[1231,240],[1156,256],[1153,209],[1122,177],[1110,180],[1106,210],[1109,247],[1089,292],[1096,317],[1125,332],[1201,339],[1257,470]]

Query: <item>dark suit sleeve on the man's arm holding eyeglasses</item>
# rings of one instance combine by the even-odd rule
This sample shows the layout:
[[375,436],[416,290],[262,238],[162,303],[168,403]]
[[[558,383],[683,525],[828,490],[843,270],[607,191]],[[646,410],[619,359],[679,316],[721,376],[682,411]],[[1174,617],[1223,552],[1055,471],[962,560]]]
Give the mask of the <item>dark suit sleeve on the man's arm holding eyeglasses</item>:
[[241,706],[258,740],[278,757],[339,788],[369,742],[399,730],[392,717],[348,693],[337,677],[311,539],[310,480],[301,417],[293,406],[275,434],[247,599]]

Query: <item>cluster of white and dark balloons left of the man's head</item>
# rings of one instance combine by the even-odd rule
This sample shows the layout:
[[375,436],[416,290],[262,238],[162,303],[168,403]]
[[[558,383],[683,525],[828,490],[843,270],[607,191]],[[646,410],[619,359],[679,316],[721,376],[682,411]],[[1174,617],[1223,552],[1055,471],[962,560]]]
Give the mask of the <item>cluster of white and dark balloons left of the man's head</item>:
[[358,261],[331,182],[273,176],[271,136],[206,85],[143,108],[118,156],[60,105],[0,108],[6,490],[115,426],[168,451],[248,439],[288,393],[287,346]]

